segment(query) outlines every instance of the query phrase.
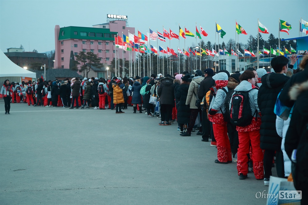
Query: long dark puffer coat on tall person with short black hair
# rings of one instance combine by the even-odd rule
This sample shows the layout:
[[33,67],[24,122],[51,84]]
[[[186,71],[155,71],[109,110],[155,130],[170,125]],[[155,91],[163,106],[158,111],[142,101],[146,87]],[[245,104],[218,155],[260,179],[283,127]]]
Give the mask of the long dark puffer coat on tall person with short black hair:
[[276,131],[275,103],[279,92],[289,77],[279,73],[265,74],[258,92],[258,106],[261,111],[260,147],[263,150],[280,150],[282,138]]

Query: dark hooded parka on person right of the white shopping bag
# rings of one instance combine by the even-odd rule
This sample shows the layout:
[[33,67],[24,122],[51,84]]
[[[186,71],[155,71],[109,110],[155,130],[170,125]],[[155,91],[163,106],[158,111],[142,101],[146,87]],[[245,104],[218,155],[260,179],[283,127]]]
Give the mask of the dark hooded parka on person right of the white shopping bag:
[[157,88],[160,104],[174,105],[174,86],[173,79],[166,77],[160,80]]

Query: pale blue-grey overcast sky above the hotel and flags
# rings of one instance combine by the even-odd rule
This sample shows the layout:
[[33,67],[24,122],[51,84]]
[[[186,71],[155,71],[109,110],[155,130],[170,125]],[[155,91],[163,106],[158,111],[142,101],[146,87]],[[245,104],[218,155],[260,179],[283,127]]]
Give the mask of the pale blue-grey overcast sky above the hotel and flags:
[[[193,34],[199,24],[209,34],[202,37],[205,42],[215,42],[215,21],[226,32],[220,43],[235,38],[235,19],[248,35],[239,35],[239,42],[246,43],[250,34],[257,35],[257,19],[270,33],[278,37],[278,18],[289,22],[290,35],[280,32],[281,38],[298,37],[299,20],[308,21],[307,0],[265,0],[265,1],[14,1],[0,0],[0,49],[19,48],[25,51],[33,49],[46,52],[55,49],[55,25],[92,27],[106,23],[107,14],[128,16],[128,26],[139,29],[142,33],[151,27],[163,32],[166,30],[178,34],[179,26],[184,26]],[[200,31],[199,31],[200,32]],[[267,40],[269,34],[262,34]],[[302,36],[305,36],[302,33]],[[217,37],[218,38],[218,37]],[[197,43],[199,39],[197,39]],[[218,42],[218,40],[217,40]],[[186,48],[196,44],[196,39],[186,37]],[[156,46],[156,42],[151,44]],[[169,42],[167,42],[169,45]],[[160,43],[162,45],[162,43]],[[171,47],[176,50],[177,39],[171,40]],[[166,43],[165,46],[166,48]],[[180,47],[184,39],[180,38]]]

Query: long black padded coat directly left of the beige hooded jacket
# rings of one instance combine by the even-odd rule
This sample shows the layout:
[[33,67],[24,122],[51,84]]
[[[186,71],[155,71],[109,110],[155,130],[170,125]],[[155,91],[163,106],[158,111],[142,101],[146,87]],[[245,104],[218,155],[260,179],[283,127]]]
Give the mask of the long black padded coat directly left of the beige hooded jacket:
[[176,121],[184,124],[190,121],[190,109],[185,105],[188,94],[189,84],[180,84],[178,87],[175,99],[178,101]]

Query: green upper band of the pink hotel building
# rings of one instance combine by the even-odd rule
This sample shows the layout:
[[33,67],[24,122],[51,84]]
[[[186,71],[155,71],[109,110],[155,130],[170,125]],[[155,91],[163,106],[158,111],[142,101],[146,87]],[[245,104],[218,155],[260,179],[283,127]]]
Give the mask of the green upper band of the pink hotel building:
[[[75,33],[77,32],[77,34]],[[60,28],[59,40],[66,39],[88,39],[114,41],[117,32],[111,32],[106,28],[68,26]]]

